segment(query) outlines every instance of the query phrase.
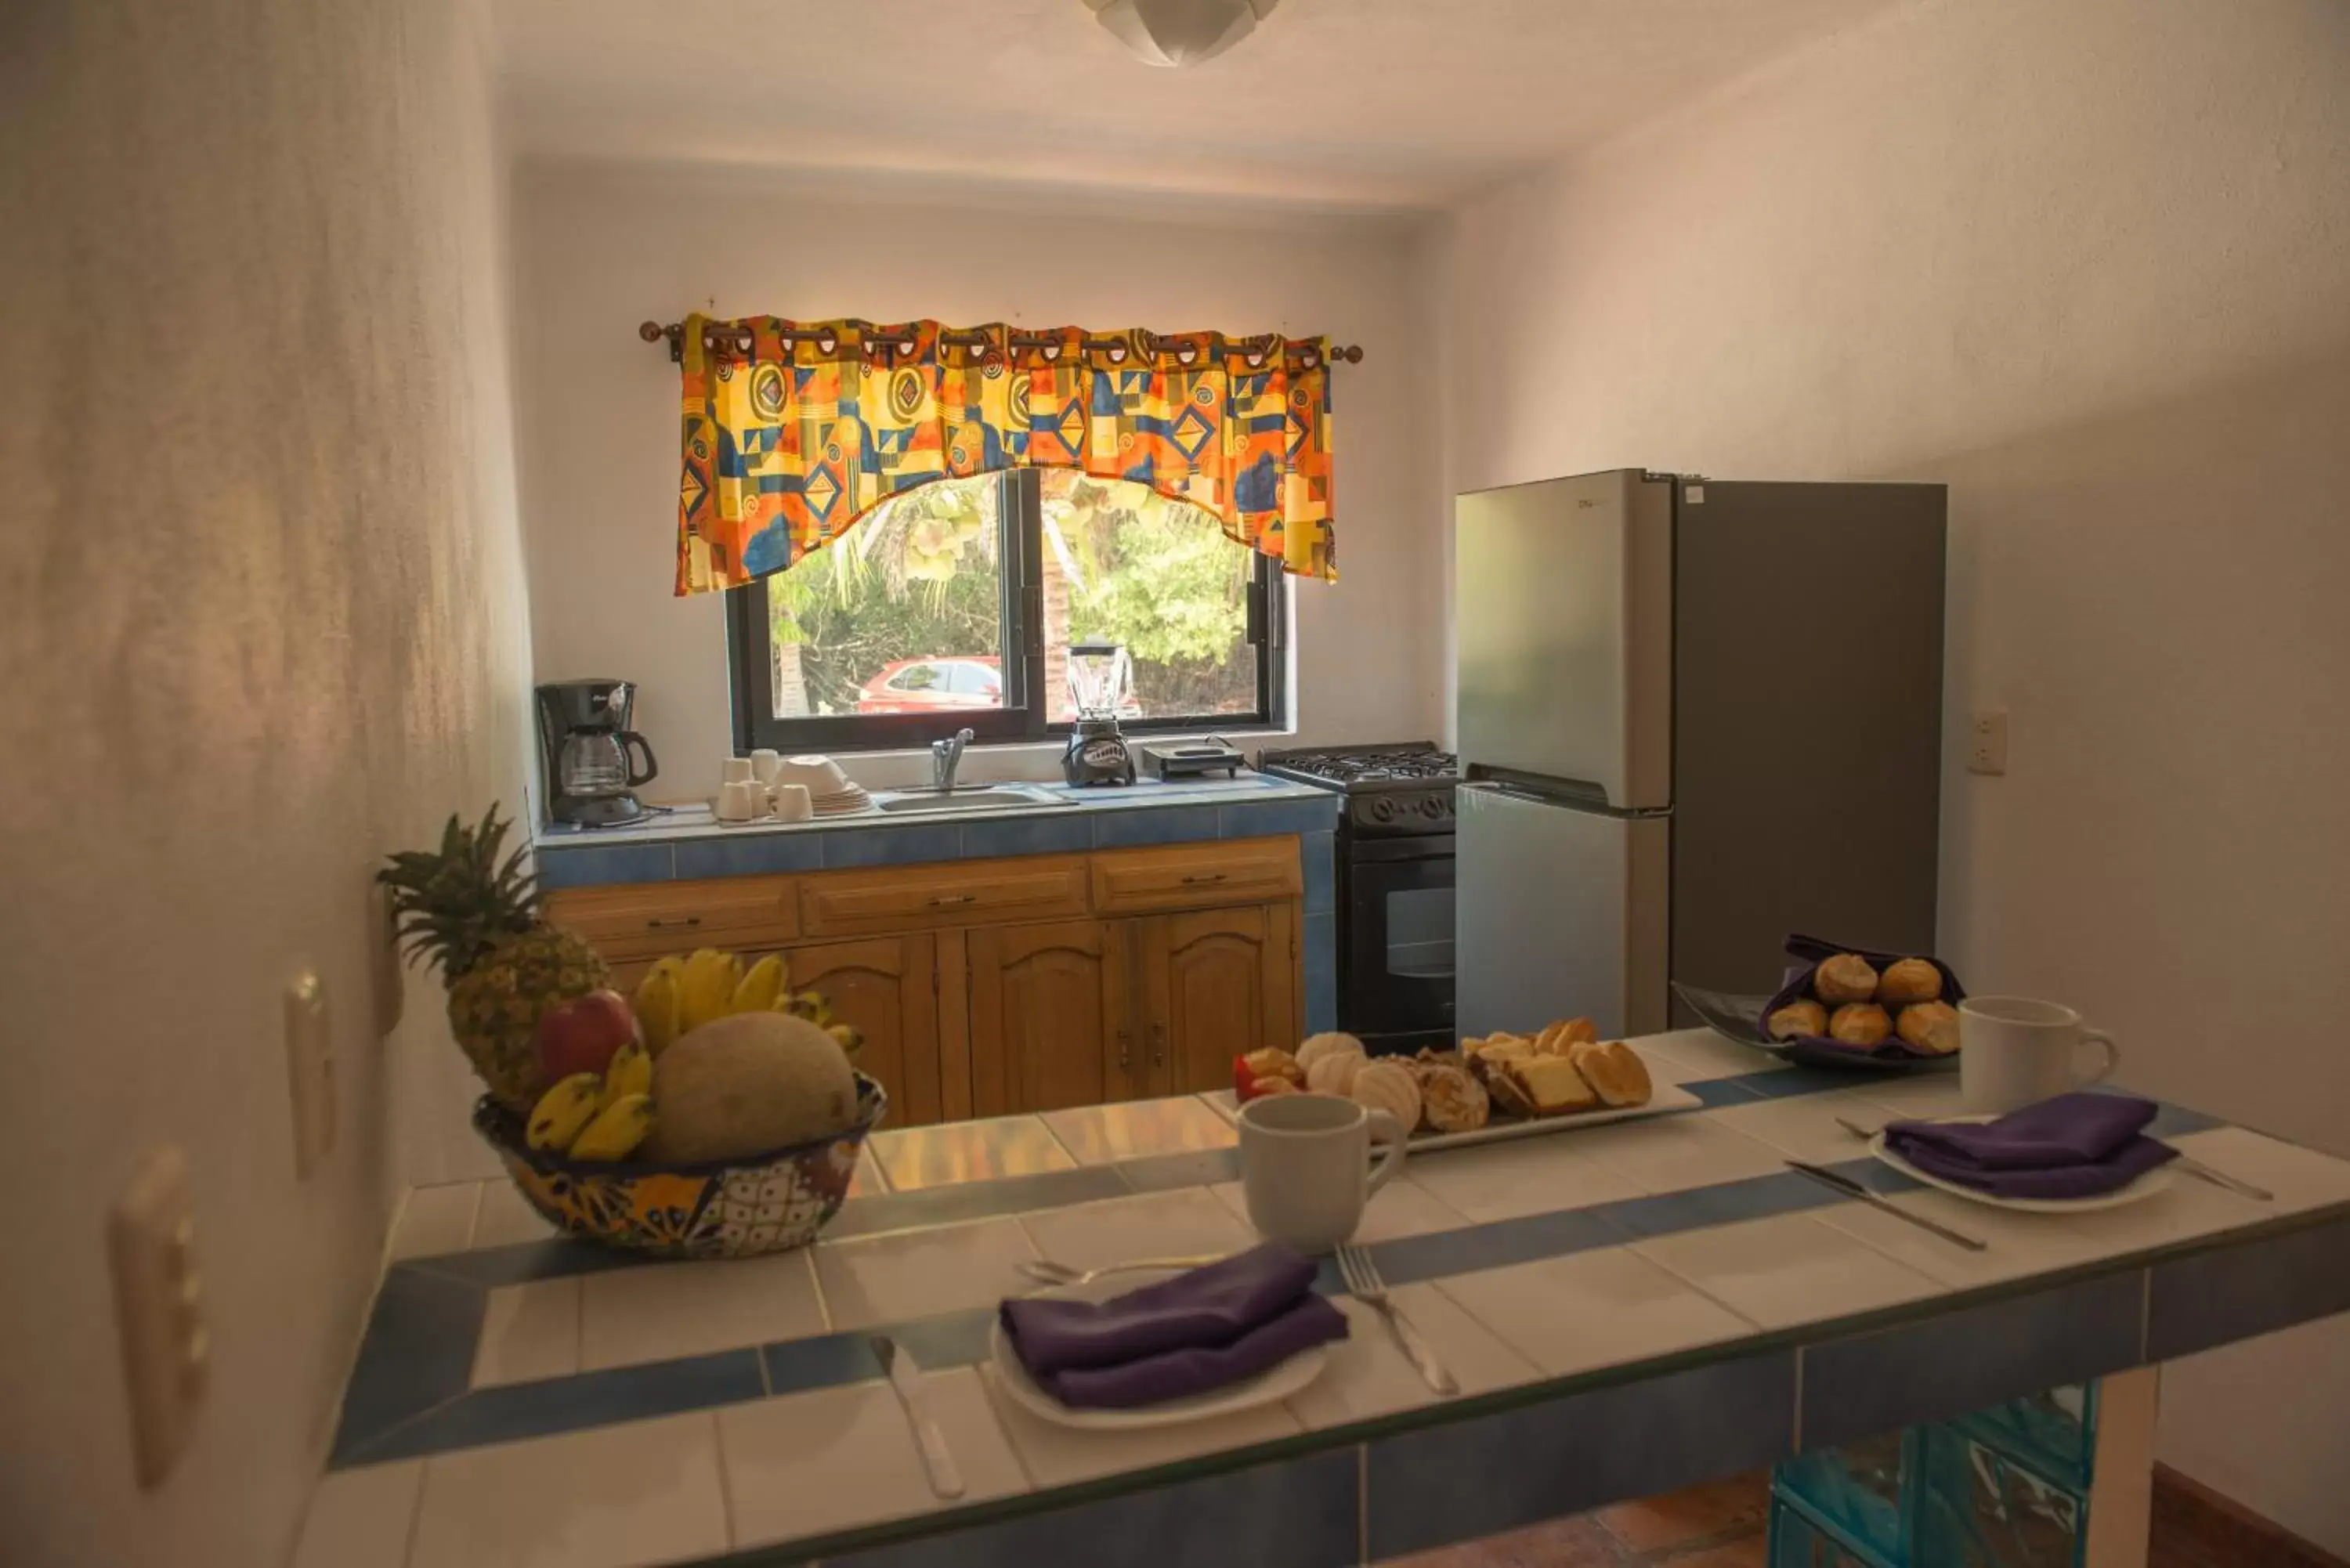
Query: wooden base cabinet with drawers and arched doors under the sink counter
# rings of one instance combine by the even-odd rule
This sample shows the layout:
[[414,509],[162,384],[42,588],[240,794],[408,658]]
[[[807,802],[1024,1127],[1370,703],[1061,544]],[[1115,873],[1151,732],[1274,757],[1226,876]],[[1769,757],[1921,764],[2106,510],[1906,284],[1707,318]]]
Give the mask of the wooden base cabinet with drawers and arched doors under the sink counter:
[[632,992],[656,957],[785,954],[865,1034],[888,1126],[1231,1084],[1304,1027],[1295,837],[559,889]]

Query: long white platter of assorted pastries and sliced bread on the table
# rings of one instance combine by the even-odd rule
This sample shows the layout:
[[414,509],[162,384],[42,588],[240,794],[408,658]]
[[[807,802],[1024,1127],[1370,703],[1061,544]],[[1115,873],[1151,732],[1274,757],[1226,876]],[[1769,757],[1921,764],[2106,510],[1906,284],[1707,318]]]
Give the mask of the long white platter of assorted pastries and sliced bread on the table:
[[1269,1093],[1330,1093],[1384,1110],[1412,1128],[1415,1150],[1450,1150],[1694,1110],[1697,1095],[1659,1086],[1622,1039],[1589,1018],[1532,1034],[1483,1034],[1457,1051],[1370,1056],[1354,1034],[1314,1034],[1295,1051],[1234,1058],[1234,1103]]

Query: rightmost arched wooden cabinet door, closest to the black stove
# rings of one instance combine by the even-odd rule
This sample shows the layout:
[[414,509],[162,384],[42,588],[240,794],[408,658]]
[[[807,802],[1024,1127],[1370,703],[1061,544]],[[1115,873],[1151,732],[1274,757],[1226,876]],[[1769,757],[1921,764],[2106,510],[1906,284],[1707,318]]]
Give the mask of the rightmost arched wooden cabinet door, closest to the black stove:
[[1144,1039],[1154,1093],[1231,1086],[1231,1058],[1297,1044],[1290,903],[1201,910],[1142,926]]

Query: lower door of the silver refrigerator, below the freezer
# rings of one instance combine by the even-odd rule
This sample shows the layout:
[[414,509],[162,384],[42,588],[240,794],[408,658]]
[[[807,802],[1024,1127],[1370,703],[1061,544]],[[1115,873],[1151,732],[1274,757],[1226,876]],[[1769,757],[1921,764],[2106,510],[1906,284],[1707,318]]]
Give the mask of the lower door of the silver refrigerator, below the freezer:
[[1579,811],[1504,785],[1455,799],[1462,1034],[1589,1016],[1600,1039],[1666,1016],[1671,818]]

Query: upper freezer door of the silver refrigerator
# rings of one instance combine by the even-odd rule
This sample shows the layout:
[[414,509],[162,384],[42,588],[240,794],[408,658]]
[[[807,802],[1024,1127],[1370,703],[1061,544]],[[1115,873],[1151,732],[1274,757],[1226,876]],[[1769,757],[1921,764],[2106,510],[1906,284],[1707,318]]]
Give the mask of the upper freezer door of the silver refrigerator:
[[1452,527],[1462,762],[1671,806],[1673,484],[1480,489]]

